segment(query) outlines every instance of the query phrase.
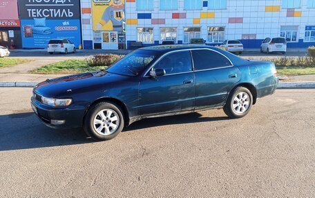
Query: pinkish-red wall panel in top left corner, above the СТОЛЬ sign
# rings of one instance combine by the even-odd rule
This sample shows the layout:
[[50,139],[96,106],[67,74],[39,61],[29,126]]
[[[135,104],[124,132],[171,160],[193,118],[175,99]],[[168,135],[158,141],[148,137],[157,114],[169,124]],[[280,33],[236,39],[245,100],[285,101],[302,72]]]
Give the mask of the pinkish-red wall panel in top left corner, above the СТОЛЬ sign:
[[0,0],[0,19],[19,19],[17,0]]

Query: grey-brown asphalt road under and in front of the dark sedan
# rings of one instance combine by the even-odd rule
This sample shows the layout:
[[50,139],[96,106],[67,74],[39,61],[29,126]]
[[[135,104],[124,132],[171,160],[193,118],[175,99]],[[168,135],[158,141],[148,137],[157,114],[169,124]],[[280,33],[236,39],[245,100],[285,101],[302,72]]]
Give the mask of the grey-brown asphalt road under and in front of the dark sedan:
[[0,88],[0,197],[315,197],[315,90],[277,90],[243,119],[146,119],[111,141],[46,128],[30,88]]

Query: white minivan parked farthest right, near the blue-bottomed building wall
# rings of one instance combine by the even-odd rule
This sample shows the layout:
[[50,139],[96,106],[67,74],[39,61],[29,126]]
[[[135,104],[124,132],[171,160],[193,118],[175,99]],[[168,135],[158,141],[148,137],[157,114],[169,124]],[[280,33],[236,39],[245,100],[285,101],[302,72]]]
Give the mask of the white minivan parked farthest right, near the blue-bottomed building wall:
[[285,55],[285,52],[287,52],[287,41],[284,37],[266,38],[261,43],[260,52],[266,52],[267,54],[281,52]]

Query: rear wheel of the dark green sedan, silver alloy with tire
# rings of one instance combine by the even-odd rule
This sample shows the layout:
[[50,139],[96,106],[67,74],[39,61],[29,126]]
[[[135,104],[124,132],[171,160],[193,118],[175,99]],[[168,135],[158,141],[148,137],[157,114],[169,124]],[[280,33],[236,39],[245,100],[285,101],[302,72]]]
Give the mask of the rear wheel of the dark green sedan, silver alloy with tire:
[[233,119],[245,117],[251,110],[253,95],[245,87],[235,88],[227,98],[223,110],[225,114]]

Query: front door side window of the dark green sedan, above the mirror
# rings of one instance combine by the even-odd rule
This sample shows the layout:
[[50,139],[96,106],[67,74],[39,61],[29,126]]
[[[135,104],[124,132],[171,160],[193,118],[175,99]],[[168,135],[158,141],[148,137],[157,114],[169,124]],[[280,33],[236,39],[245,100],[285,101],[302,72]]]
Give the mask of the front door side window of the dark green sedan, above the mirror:
[[182,72],[191,72],[191,54],[189,50],[182,52],[172,52],[170,55],[163,57],[154,69],[164,69],[166,75],[177,74]]

